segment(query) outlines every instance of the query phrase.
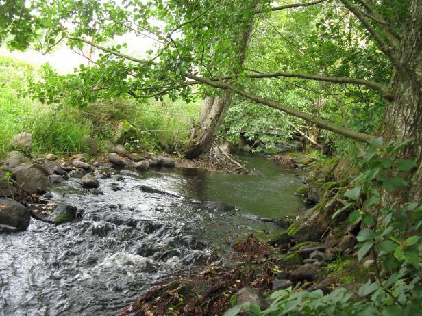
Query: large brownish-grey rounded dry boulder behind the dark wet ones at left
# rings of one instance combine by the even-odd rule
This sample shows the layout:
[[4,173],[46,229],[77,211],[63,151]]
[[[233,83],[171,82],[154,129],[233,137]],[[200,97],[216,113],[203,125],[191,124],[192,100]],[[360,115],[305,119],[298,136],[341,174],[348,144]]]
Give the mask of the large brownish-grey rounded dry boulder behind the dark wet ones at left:
[[16,173],[16,185],[25,192],[45,192],[50,183],[49,172],[36,164],[23,163],[14,168],[14,172]]

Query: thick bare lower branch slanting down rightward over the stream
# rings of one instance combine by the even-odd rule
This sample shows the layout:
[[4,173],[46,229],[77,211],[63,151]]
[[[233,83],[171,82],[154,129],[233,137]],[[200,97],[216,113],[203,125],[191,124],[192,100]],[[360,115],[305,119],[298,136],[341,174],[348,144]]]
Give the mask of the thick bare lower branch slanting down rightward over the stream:
[[346,129],[344,127],[340,127],[337,124],[334,124],[332,122],[328,122],[327,120],[323,120],[317,116],[314,116],[312,114],[308,114],[303,111],[299,111],[297,109],[292,109],[291,107],[287,107],[286,105],[282,105],[281,103],[269,100],[266,98],[260,98],[259,96],[256,96],[254,94],[251,94],[249,92],[240,90],[239,88],[236,88],[234,85],[230,85],[229,83],[225,83],[222,81],[212,81],[210,79],[205,79],[202,77],[198,77],[196,75],[185,73],[186,77],[193,79],[195,81],[199,81],[201,83],[204,83],[206,85],[210,85],[214,88],[219,88],[223,90],[232,90],[236,94],[239,94],[240,96],[244,96],[245,98],[248,98],[251,101],[254,101],[256,103],[260,103],[263,105],[268,105],[269,107],[273,107],[274,109],[278,109],[286,114],[290,114],[291,116],[295,116],[297,118],[301,118],[302,120],[306,120],[307,122],[311,122],[315,124],[317,127],[320,127],[321,129],[327,129],[328,131],[333,131],[334,133],[338,133],[340,135],[343,135],[345,137],[349,137],[353,140],[360,140],[361,142],[368,142],[369,140],[373,139],[373,135],[368,135],[365,133],[360,133],[356,131],[351,131],[350,129]]

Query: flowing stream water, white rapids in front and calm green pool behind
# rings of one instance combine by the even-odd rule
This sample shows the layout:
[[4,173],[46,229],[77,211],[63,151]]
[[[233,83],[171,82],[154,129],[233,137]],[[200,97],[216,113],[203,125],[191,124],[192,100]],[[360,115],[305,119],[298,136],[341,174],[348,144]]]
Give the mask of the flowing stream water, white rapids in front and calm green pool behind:
[[[295,215],[295,170],[262,155],[240,157],[260,174],[194,168],[151,170],[125,176],[120,191],[101,180],[104,195],[78,184],[78,176],[52,188],[53,200],[84,209],[81,220],[54,226],[31,220],[27,231],[0,233],[0,315],[115,315],[148,287],[223,258],[251,233],[281,228],[256,217]],[[80,177],[80,175],[79,175]],[[148,185],[169,194],[147,193]],[[195,201],[238,207],[220,213]]]

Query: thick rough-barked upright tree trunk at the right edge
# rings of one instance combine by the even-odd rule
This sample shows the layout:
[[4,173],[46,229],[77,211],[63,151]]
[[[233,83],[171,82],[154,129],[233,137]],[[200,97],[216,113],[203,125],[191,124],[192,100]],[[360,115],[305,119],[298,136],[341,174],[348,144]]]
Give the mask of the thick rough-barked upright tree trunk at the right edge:
[[[419,3],[419,5],[418,5]],[[417,168],[408,176],[408,187],[397,189],[394,196],[403,202],[422,199],[422,5],[412,1],[408,22],[399,50],[403,70],[395,70],[390,83],[393,99],[384,111],[382,135],[385,141],[413,139],[399,153],[399,159],[412,159]],[[390,196],[393,198],[393,195]]]

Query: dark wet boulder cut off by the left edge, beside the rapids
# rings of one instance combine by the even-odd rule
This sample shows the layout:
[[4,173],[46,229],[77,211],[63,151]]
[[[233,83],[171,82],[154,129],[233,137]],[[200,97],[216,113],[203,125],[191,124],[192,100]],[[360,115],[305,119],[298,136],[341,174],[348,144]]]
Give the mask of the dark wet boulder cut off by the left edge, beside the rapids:
[[31,216],[29,210],[10,198],[0,198],[0,228],[7,231],[25,231]]

